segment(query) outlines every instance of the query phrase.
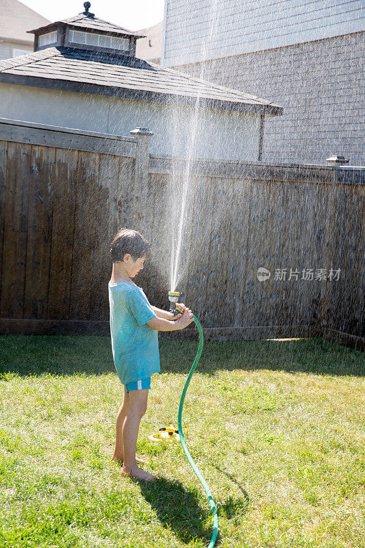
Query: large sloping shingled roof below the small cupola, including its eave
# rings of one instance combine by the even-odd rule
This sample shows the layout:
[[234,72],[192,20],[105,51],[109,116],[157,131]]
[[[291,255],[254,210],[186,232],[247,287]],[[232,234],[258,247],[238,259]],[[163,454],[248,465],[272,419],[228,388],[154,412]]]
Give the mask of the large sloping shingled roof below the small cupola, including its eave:
[[206,108],[282,114],[260,97],[204,82],[138,58],[66,47],[48,47],[0,61],[0,82]]

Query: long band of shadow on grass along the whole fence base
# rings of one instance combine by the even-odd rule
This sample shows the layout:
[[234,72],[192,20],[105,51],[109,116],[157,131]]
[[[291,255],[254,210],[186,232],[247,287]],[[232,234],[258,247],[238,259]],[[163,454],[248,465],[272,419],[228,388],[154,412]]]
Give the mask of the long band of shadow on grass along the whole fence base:
[[[160,343],[161,371],[190,371],[197,341]],[[206,341],[197,371],[269,369],[288,373],[365,376],[365,352],[323,338],[299,340]],[[115,373],[109,337],[0,336],[0,373],[25,375],[103,375]]]

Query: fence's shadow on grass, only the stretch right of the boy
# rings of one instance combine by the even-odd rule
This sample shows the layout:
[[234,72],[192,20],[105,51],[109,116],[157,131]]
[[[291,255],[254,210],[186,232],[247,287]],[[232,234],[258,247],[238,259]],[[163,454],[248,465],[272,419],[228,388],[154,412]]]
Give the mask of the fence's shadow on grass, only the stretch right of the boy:
[[[194,341],[174,340],[160,343],[162,371],[188,373],[197,346],[197,342]],[[365,352],[321,337],[293,340],[207,341],[197,371],[213,375],[220,369],[268,369],[288,373],[364,377]]]

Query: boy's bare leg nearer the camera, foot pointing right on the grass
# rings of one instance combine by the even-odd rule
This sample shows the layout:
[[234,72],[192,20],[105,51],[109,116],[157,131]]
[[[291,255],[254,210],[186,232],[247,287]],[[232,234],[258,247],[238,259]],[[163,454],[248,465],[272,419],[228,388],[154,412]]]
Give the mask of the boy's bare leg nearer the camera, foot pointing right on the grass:
[[156,476],[138,468],[136,462],[136,447],[138,438],[138,429],[140,420],[147,410],[147,399],[149,390],[130,390],[129,391],[129,409],[123,423],[123,475],[131,475],[138,479],[153,481]]

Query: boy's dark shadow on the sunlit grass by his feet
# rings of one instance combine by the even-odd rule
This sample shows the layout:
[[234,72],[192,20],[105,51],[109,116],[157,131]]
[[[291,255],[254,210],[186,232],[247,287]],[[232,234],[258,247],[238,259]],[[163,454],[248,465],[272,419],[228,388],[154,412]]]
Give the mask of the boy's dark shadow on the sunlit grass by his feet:
[[140,485],[142,495],[155,510],[162,525],[171,529],[181,542],[188,544],[192,539],[199,539],[209,543],[212,528],[204,524],[211,514],[201,508],[197,491],[187,490],[177,479],[134,481]]

